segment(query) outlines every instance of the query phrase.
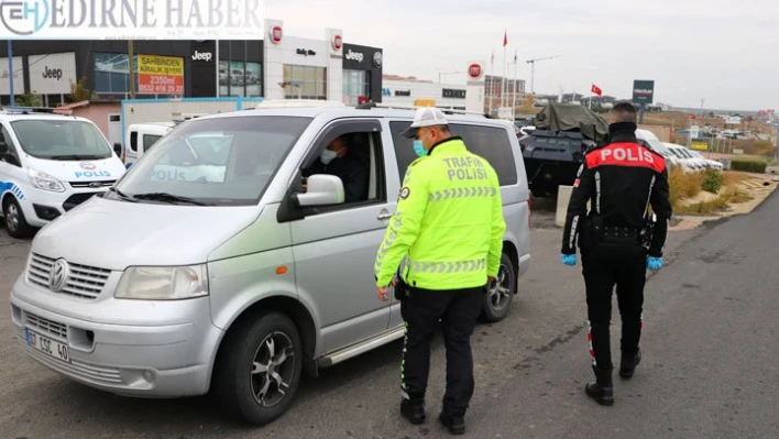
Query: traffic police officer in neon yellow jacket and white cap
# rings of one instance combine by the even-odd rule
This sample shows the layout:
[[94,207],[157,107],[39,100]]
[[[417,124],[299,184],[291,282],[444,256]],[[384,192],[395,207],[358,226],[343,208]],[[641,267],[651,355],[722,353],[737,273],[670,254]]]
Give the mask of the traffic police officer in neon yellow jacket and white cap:
[[447,391],[439,420],[463,433],[474,388],[470,338],[484,287],[497,276],[506,230],[501,188],[487,161],[451,135],[440,110],[417,110],[401,134],[415,140],[419,158],[408,166],[375,261],[376,295],[388,300],[395,285],[406,322],[401,413],[425,421],[430,339],[441,320]]

